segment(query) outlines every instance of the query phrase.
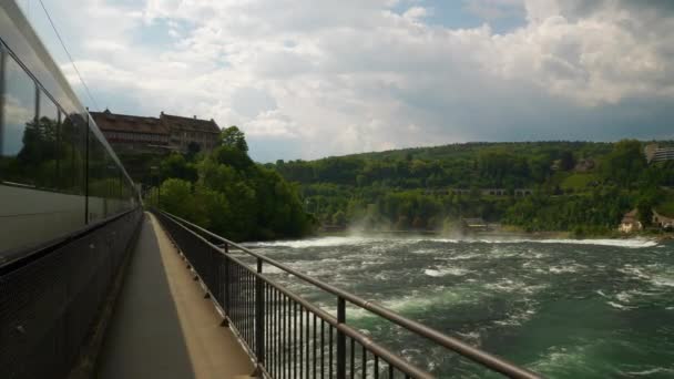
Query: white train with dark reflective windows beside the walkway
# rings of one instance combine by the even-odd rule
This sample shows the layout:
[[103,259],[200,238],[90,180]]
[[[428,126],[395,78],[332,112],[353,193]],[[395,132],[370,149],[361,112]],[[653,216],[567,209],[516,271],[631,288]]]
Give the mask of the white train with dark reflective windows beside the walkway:
[[0,2],[0,264],[140,205],[20,8]]

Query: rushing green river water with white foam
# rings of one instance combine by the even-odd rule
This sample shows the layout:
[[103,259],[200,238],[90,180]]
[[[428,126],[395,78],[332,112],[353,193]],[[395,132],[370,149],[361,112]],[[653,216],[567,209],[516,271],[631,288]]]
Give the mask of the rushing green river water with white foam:
[[[674,245],[651,240],[323,237],[249,244],[326,283],[552,378],[674,378]],[[268,270],[334,314],[333,297]],[[349,308],[438,377],[466,359]]]

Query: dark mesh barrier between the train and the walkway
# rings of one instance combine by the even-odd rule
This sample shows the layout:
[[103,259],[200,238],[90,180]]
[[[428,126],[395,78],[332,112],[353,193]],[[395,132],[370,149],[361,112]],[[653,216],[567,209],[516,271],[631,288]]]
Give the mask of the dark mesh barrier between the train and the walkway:
[[70,372],[141,218],[129,211],[0,265],[0,377]]

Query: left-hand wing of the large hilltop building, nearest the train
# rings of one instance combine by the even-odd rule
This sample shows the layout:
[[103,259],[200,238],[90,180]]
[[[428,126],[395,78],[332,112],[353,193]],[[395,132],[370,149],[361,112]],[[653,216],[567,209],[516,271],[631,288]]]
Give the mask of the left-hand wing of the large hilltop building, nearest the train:
[[171,150],[168,129],[156,117],[90,112],[118,153],[152,153]]

